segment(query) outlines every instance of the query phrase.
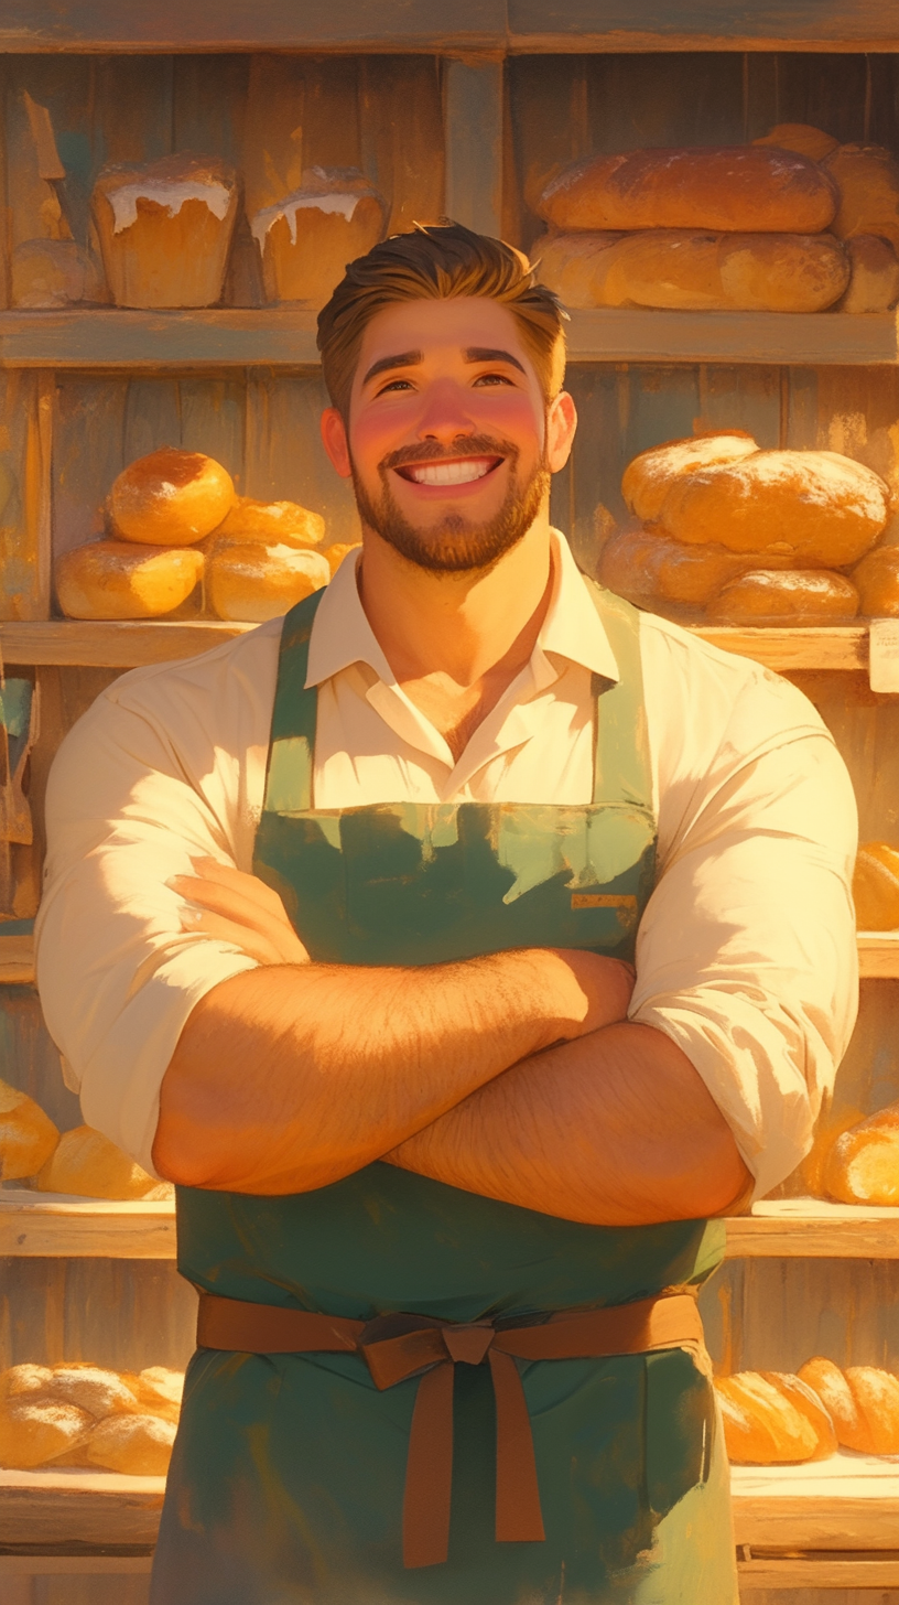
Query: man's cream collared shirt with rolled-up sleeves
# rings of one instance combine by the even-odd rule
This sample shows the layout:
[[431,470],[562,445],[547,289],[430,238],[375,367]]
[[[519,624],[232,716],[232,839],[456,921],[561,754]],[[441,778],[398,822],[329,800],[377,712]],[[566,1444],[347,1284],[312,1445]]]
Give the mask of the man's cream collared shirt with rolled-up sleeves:
[[[371,631],[355,554],[321,600],[313,804],[589,802],[591,676],[618,668],[554,534],[528,664],[454,762]],[[153,1170],[159,1083],[191,1008],[254,961],[180,929],[167,886],[212,854],[252,867],[281,621],[122,676],[66,737],[47,794],[37,977],[83,1117]],[[811,1144],[856,1013],[856,807],[787,681],[642,616],[660,880],[631,1019],[687,1053],[766,1193]]]

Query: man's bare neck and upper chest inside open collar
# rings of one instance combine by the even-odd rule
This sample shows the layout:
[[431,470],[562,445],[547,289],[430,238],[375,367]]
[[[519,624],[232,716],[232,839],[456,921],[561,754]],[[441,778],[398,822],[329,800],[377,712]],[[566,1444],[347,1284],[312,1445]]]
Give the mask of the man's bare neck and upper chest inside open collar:
[[549,603],[549,514],[493,568],[432,573],[363,530],[360,595],[400,684],[446,676],[474,685],[504,663],[530,658]]

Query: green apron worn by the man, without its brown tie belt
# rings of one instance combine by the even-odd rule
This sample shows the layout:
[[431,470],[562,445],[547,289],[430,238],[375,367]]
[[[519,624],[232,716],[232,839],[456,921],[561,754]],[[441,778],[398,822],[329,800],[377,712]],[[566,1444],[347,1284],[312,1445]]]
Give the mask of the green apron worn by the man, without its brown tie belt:
[[[596,677],[588,806],[311,806],[319,595],[284,621],[255,873],[313,960],[422,965],[514,947],[633,958],[655,817],[639,615],[591,586],[620,681]],[[382,1162],[289,1197],[178,1189],[178,1265],[231,1298],[369,1321],[528,1318],[698,1286],[722,1223],[605,1228]],[[687,1348],[519,1363],[546,1539],[496,1542],[490,1369],[456,1367],[446,1563],[403,1568],[417,1377],[352,1355],[199,1350],[153,1605],[735,1605],[727,1469]]]

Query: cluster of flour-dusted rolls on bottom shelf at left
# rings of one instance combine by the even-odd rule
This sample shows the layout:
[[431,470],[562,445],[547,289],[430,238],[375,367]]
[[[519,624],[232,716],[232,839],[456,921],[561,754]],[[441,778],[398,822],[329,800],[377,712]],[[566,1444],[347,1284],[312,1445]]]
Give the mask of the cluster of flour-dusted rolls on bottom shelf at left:
[[185,1375],[167,1366],[11,1366],[0,1372],[0,1465],[80,1465],[164,1477]]

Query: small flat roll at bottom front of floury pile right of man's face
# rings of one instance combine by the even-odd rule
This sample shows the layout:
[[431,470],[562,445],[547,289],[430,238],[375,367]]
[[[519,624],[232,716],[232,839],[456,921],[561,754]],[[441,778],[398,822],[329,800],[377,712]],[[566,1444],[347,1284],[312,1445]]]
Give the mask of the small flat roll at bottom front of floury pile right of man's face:
[[714,624],[848,624],[859,592],[827,568],[756,568],[730,579],[710,602]]

